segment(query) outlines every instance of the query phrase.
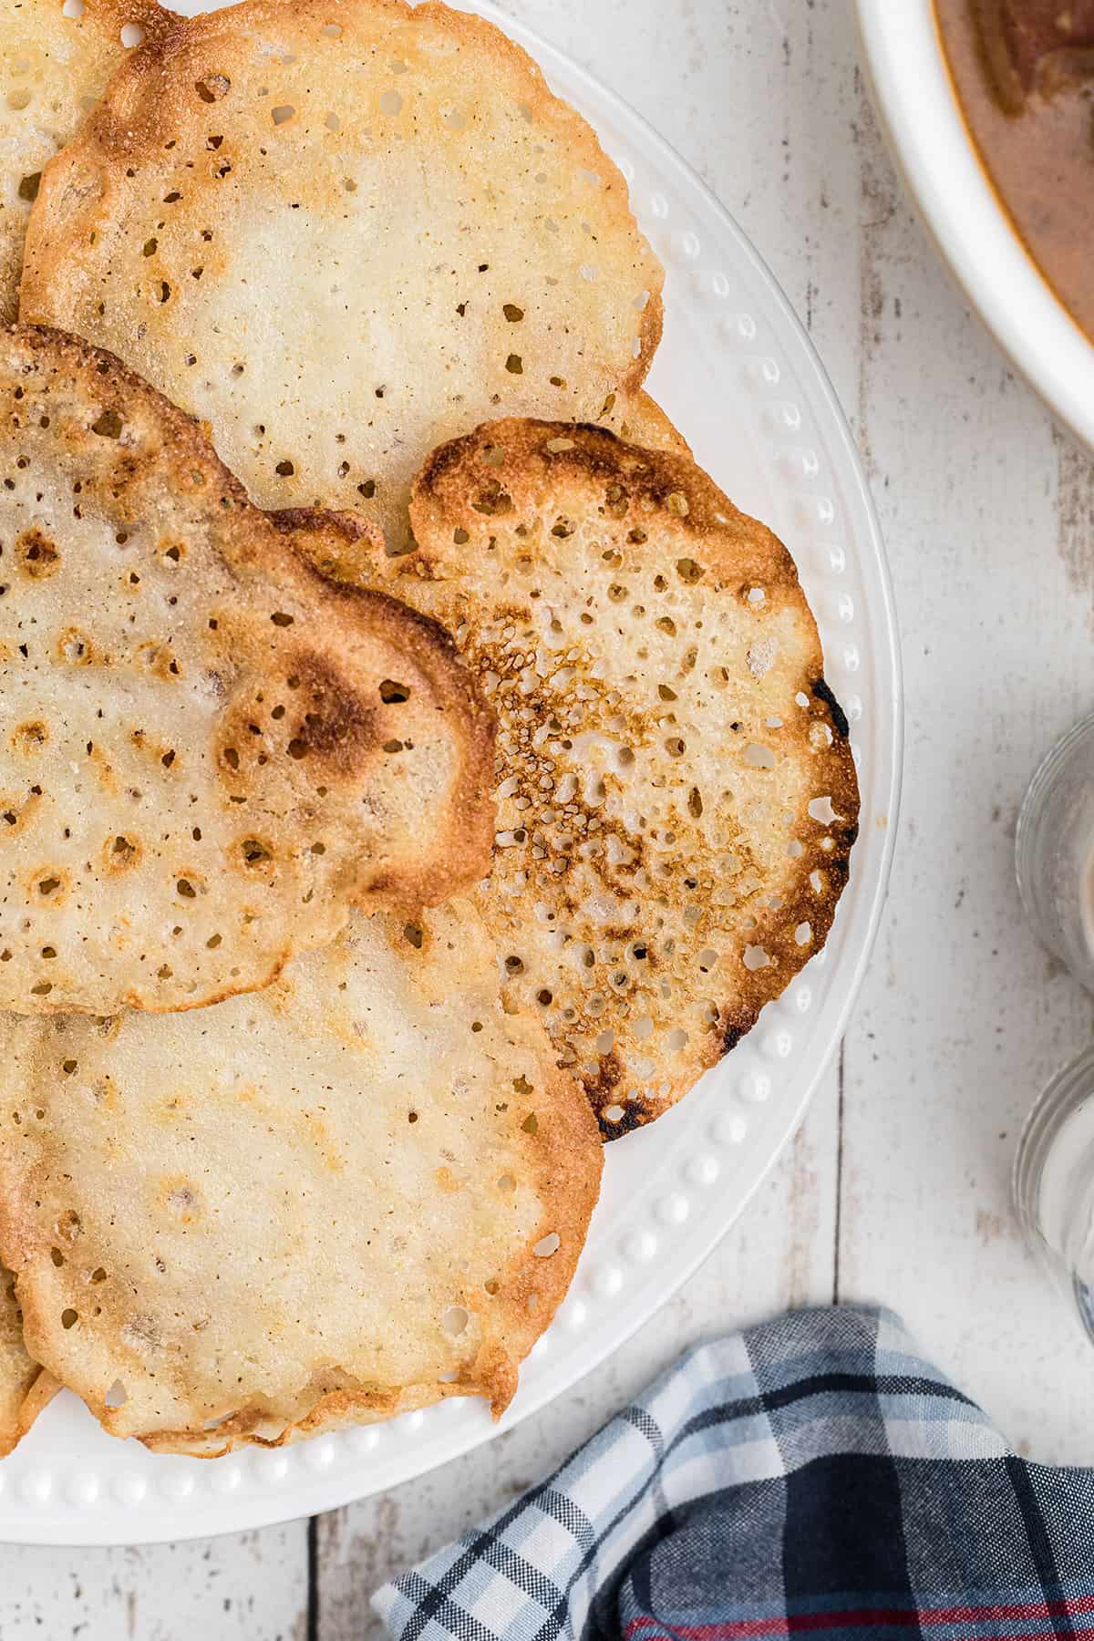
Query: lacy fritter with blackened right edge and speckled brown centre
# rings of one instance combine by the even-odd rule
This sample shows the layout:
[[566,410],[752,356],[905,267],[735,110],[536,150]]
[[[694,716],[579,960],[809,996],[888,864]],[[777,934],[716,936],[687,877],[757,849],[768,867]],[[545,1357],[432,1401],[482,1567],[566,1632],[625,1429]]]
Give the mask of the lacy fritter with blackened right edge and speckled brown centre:
[[732,1049],[828,934],[848,725],[782,543],[686,456],[497,422],[417,481],[392,584],[499,715],[479,906],[612,1137]]

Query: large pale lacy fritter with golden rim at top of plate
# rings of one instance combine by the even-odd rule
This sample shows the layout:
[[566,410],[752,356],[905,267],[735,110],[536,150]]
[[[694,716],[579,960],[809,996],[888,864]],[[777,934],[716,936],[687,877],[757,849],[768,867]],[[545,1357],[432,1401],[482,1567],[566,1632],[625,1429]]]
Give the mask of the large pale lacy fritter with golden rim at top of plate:
[[21,317],[207,418],[261,505],[353,507],[399,551],[438,440],[640,387],[661,282],[594,131],[490,23],[244,0],[149,39],[46,167]]

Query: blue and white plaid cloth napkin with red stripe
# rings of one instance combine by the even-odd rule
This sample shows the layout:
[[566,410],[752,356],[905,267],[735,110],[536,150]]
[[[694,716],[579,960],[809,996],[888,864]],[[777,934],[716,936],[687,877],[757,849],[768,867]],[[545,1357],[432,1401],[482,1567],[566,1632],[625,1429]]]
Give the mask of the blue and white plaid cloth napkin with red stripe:
[[891,1313],[799,1311],[689,1351],[374,1607],[397,1641],[1084,1636],[1094,1472],[1015,1457]]

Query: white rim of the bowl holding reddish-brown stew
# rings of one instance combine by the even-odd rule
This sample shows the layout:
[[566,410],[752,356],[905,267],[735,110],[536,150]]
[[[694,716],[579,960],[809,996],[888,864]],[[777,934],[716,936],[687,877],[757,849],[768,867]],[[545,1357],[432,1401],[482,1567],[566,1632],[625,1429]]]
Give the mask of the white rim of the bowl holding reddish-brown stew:
[[1017,369],[1094,448],[1094,343],[1038,272],[984,174],[933,0],[858,0],[858,21],[889,146],[941,256]]

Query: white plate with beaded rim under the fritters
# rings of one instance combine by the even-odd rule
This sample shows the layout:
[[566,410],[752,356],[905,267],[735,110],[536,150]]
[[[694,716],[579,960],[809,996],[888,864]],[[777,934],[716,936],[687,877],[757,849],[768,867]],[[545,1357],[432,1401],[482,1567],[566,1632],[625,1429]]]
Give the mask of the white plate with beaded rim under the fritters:
[[797,558],[858,757],[850,886],[827,950],[751,1035],[656,1131],[609,1147],[572,1290],[500,1426],[479,1403],[448,1401],[210,1462],[118,1442],[62,1395],[0,1464],[0,1539],[133,1544],[258,1528],[394,1487],[526,1418],[615,1351],[727,1231],[799,1122],[866,968],[896,830],[900,679],[882,545],[840,407],[771,274],[687,166],[584,71],[481,10],[533,51],[623,167],[668,269],[651,387],[699,461]]

